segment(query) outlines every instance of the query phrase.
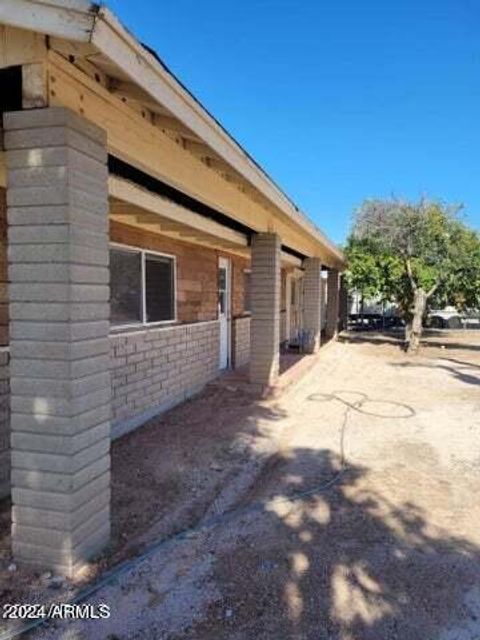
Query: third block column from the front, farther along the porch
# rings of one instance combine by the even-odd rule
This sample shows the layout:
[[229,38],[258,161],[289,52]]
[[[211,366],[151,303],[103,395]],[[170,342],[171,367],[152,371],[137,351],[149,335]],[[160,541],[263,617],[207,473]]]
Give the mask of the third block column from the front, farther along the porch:
[[304,349],[307,353],[317,353],[320,348],[320,325],[322,307],[322,265],[318,258],[307,258],[304,262],[303,278],[303,328]]

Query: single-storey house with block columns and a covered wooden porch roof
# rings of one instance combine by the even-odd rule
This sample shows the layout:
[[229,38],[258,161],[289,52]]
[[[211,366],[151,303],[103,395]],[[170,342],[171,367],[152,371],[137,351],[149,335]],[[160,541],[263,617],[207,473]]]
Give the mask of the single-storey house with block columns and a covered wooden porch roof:
[[343,255],[106,8],[2,0],[0,88],[1,480],[16,559],[71,575],[111,435],[318,350]]

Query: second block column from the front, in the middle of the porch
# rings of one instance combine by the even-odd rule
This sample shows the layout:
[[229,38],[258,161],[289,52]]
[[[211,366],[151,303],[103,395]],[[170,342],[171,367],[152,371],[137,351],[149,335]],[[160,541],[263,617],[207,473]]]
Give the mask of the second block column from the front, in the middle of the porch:
[[251,283],[250,382],[268,387],[280,364],[280,238],[274,233],[253,237]]

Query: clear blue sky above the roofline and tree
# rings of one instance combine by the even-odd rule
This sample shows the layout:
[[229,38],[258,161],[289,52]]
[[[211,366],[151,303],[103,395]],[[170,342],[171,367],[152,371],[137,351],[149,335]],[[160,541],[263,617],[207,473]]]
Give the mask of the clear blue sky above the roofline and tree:
[[341,242],[364,198],[480,228],[478,0],[107,0]]

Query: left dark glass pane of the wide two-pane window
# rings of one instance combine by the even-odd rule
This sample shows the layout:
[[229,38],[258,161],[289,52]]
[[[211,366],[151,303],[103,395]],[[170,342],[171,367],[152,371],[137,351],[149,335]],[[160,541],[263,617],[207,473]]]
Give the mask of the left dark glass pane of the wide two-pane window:
[[112,324],[142,321],[141,255],[110,249],[110,314]]

